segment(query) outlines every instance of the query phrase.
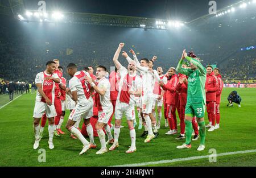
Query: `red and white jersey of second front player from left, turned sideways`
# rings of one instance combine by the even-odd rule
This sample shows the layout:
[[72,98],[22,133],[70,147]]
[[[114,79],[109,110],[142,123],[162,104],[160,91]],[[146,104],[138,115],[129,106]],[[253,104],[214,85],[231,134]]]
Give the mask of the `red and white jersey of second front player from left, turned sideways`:
[[69,89],[71,92],[77,91],[77,103],[82,104],[90,98],[90,84],[85,81],[85,76],[90,74],[85,71],[78,71],[69,80]]

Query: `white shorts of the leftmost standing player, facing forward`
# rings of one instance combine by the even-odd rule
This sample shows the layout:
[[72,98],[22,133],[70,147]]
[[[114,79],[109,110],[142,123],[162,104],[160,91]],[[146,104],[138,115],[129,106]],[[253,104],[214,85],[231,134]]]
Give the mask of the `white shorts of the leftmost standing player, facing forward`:
[[54,104],[51,106],[47,105],[45,102],[36,101],[34,107],[34,118],[42,118],[43,114],[46,113],[47,118],[52,118],[57,115]]

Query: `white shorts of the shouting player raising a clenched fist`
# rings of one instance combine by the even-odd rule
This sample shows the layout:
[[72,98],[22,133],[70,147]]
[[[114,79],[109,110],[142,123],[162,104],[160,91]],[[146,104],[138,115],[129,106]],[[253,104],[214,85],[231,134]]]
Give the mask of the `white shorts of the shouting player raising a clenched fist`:
[[128,105],[125,102],[117,100],[117,104],[115,104],[115,119],[122,119],[123,114],[125,114],[127,120],[134,120],[134,105]]

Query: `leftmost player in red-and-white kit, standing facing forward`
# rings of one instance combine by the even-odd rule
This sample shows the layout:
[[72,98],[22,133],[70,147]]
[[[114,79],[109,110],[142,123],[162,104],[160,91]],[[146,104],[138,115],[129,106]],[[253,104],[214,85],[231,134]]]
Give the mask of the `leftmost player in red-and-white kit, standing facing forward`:
[[53,74],[55,71],[55,62],[48,61],[46,63],[46,71],[36,74],[35,84],[38,88],[36,92],[36,102],[34,107],[34,133],[35,133],[35,143],[34,149],[39,147],[40,142],[40,119],[43,114],[46,113],[46,117],[49,122],[49,148],[53,149],[53,132],[54,132],[54,117],[57,115],[54,107],[55,99],[55,82],[59,83],[60,78],[57,74]]

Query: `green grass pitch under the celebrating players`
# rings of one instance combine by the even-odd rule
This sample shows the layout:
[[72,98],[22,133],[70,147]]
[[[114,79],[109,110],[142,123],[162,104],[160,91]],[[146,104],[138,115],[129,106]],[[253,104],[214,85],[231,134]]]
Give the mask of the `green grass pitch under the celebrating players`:
[[[188,158],[191,156],[209,155],[210,148],[215,148],[217,154],[223,152],[254,150],[256,148],[256,89],[236,89],[242,97],[241,108],[236,104],[233,107],[226,107],[228,94],[234,89],[224,89],[220,106],[221,121],[220,129],[207,132],[205,150],[196,151],[200,140],[192,141],[192,148],[177,150],[176,146],[183,143],[183,140],[175,140],[176,135],[165,135],[168,128],[162,127],[159,130],[159,137],[150,143],[143,143],[144,138],[139,136],[143,130],[137,133],[137,151],[133,154],[126,154],[130,146],[130,135],[127,129],[126,119],[122,119],[119,136],[119,147],[104,155],[96,155],[100,149],[100,141],[95,138],[97,149],[88,150],[84,155],[79,155],[82,143],[77,139],[69,137],[65,129],[65,123],[69,115],[66,112],[62,130],[65,135],[60,138],[54,136],[55,148],[48,148],[48,126],[44,129],[44,138],[40,141],[39,148],[46,150],[46,162],[38,162],[38,150],[33,149],[34,133],[32,129],[32,113],[35,104],[34,94],[24,94],[9,105],[0,109],[0,166],[111,166],[122,164],[134,164],[144,162],[156,162],[159,160],[170,160],[177,158]],[[0,96],[0,107],[8,102],[8,96]],[[179,121],[179,119],[177,118]],[[113,119],[114,121],[114,119]],[[208,123],[207,113],[205,121]],[[138,118],[137,118],[138,122]],[[81,123],[80,123],[81,124]],[[179,130],[179,127],[178,127]],[[109,148],[109,146],[108,146]],[[208,159],[191,160],[184,162],[152,164],[150,166],[255,166],[256,153],[243,155],[221,156],[216,163],[209,163]]]

